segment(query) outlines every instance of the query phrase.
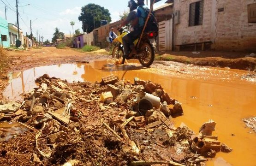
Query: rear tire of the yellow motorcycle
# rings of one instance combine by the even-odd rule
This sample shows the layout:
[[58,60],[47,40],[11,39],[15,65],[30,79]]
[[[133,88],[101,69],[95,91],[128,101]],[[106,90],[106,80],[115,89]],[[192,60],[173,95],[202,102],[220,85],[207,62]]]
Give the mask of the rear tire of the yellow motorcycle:
[[[155,60],[154,48],[147,42],[143,43],[140,47],[140,52],[145,52],[146,57],[139,58],[140,64],[144,67],[149,67]],[[150,56],[150,57],[149,57]],[[144,59],[149,57],[149,61],[145,62]]]

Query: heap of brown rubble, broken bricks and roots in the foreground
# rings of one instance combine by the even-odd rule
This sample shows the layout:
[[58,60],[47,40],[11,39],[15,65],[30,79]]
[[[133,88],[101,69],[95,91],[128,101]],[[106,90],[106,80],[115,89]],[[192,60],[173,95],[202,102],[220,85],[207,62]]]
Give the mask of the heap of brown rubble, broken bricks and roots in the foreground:
[[36,83],[22,103],[0,105],[2,165],[200,166],[232,150],[212,136],[213,121],[199,135],[175,128],[172,118],[183,109],[160,84],[113,75],[67,83],[47,74]]

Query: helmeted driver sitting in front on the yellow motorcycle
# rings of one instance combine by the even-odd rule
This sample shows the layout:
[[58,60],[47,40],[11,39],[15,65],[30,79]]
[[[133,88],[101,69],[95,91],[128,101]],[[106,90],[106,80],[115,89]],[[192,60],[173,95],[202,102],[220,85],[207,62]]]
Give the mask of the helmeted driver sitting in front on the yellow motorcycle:
[[[144,0],[138,0],[138,4],[142,4],[142,2],[144,3]],[[129,0],[128,2],[128,6],[130,7],[130,13],[127,17],[127,19],[119,26],[119,28],[121,28],[122,26],[124,26],[125,24],[129,23],[130,21],[132,21],[131,23],[131,32],[128,33],[127,35],[125,35],[123,37],[123,45],[124,45],[124,57],[126,59],[130,59],[131,55],[136,53],[136,49],[135,46],[133,44],[133,41],[135,41],[138,36],[141,34],[142,30],[143,30],[143,25],[140,26],[140,24],[137,24],[138,21],[135,21],[138,17],[138,11],[137,11],[137,3],[134,0]],[[140,12],[141,13],[141,12]],[[146,14],[144,14],[146,15]]]

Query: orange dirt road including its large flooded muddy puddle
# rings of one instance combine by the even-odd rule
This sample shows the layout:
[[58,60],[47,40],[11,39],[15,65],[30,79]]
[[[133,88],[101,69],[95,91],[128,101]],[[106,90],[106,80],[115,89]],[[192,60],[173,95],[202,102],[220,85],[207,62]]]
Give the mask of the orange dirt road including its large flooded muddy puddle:
[[[131,60],[125,66],[115,66],[110,56],[54,47],[9,52],[9,55],[12,62],[8,71],[12,71],[12,77],[16,75],[17,79],[8,85],[5,96],[29,90],[34,85],[34,79],[42,73],[70,82],[101,81],[101,77],[109,74],[131,83],[134,77],[151,80],[161,83],[173,98],[183,103],[184,116],[173,119],[176,126],[185,123],[198,131],[202,123],[209,119],[217,123],[214,135],[234,150],[230,154],[217,154],[214,160],[207,163],[208,166],[254,166],[256,135],[245,129],[242,121],[256,116],[256,79],[253,71],[199,67],[171,61],[155,61],[151,68],[143,68],[137,60]],[[25,71],[27,69],[30,70]],[[15,71],[23,74],[16,74]],[[2,78],[1,93],[8,84],[8,80]]]

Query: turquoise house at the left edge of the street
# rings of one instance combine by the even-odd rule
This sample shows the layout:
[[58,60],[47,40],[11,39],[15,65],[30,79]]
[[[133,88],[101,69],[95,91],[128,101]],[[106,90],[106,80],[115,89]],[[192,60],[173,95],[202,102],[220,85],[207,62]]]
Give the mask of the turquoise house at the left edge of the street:
[[8,22],[0,17],[0,46],[10,47],[10,38],[8,35]]

